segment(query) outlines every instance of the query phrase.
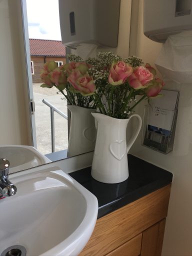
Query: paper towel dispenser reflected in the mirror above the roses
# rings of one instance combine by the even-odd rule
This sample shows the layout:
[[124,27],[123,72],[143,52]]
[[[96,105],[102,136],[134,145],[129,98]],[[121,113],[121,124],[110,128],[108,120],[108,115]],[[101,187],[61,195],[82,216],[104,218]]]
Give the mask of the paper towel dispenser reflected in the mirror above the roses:
[[117,46],[120,0],[59,0],[62,43]]

